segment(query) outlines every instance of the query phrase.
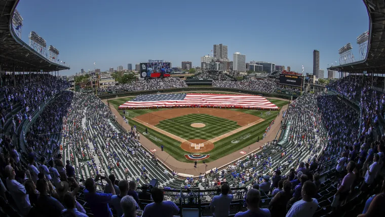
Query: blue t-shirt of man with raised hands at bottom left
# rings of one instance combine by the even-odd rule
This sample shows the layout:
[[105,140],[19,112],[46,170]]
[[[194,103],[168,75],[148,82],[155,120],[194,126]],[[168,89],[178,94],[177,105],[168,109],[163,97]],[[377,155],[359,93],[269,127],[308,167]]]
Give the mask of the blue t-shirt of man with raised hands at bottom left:
[[86,189],[84,190],[84,197],[95,217],[112,216],[112,212],[108,206],[108,203],[111,202],[112,194],[90,194],[90,192]]

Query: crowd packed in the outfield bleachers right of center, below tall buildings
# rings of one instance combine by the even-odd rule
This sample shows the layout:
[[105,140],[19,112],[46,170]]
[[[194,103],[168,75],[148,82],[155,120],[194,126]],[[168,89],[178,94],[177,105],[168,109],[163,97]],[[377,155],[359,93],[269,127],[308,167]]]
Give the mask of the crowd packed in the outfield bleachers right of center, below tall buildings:
[[269,79],[246,79],[242,81],[213,81],[212,86],[270,93],[274,91],[277,83],[275,80]]

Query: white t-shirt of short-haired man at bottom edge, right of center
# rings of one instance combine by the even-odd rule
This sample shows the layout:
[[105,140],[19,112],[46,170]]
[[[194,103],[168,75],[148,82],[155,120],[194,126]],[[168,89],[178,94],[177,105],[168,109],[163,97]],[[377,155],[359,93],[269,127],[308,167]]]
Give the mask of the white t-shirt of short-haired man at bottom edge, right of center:
[[309,217],[313,216],[317,211],[318,201],[313,198],[313,201],[306,202],[304,200],[297,201],[291,206],[286,217]]

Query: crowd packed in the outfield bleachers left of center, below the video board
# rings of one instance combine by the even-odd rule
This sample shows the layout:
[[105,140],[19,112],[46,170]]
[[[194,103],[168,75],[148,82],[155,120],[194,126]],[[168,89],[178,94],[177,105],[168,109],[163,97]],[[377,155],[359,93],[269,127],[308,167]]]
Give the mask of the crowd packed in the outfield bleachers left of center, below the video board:
[[141,91],[141,90],[161,90],[171,88],[183,88],[187,87],[186,83],[174,77],[167,77],[163,79],[149,79],[133,81],[129,84],[119,84],[114,86],[108,86],[99,88],[100,92],[114,91],[114,90],[129,90],[129,91]]

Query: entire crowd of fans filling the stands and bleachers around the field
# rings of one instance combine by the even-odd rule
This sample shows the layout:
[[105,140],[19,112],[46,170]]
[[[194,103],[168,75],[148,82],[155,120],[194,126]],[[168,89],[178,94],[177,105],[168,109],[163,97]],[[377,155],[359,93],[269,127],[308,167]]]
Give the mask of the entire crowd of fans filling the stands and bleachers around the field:
[[[335,95],[304,94],[282,112],[280,146],[267,142],[223,168],[182,180],[141,146],[139,128],[125,131],[96,96],[62,91],[68,84],[54,77],[36,76],[24,84],[19,76],[23,85],[17,86],[13,77],[2,79],[0,204],[13,204],[23,216],[172,216],[180,213],[176,203],[184,196],[190,199],[182,203],[197,204],[201,198],[210,202],[214,216],[228,216],[240,195],[247,210],[235,216],[353,213],[359,207],[355,198],[364,200],[360,216],[383,213],[385,96],[367,82],[333,84],[345,96],[359,91],[361,113]],[[178,81],[140,81],[130,88],[183,86]],[[214,85],[270,92],[276,84],[244,80]],[[19,144],[18,127],[25,122],[32,123]],[[25,155],[24,149],[16,149],[19,145],[25,146]],[[331,169],[321,183],[326,165]],[[159,179],[160,186],[148,191],[152,178]],[[100,186],[103,182],[107,185]],[[189,190],[195,187],[212,191],[197,195]],[[183,195],[173,191],[180,188]]]

